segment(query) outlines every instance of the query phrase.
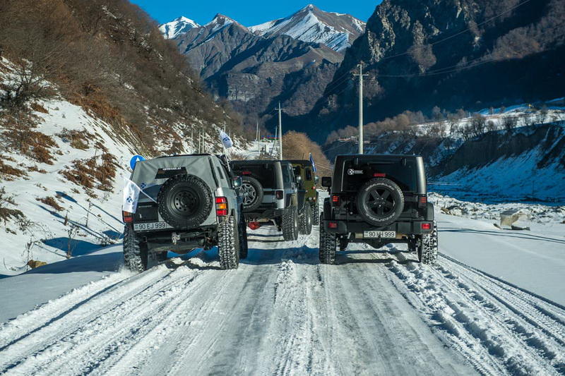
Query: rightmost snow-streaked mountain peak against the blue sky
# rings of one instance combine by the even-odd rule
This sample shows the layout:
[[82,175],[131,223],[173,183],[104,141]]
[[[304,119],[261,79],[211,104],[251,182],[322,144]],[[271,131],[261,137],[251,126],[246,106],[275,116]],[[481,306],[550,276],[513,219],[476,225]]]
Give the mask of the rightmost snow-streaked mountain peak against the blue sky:
[[309,4],[291,16],[251,26],[249,30],[263,37],[289,35],[345,51],[364,32],[365,23],[349,14],[325,12]]

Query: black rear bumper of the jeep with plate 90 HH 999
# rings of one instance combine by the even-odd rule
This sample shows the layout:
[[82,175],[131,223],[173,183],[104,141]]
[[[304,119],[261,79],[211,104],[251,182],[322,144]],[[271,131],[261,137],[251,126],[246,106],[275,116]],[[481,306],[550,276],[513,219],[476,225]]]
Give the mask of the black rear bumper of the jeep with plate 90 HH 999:
[[[331,229],[329,224],[337,224],[337,227]],[[422,229],[422,224],[430,224],[429,230]],[[409,222],[395,222],[388,226],[372,226],[366,222],[347,222],[340,220],[324,220],[322,225],[326,231],[335,234],[362,234],[363,231],[396,231],[396,234],[405,235],[421,235],[429,234],[433,229],[433,222],[430,221],[409,221]]]

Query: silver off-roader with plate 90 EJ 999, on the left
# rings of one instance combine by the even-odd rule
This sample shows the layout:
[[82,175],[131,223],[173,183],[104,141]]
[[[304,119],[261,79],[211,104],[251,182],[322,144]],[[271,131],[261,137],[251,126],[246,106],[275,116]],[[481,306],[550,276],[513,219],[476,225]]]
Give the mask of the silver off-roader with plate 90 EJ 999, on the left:
[[131,181],[144,193],[135,213],[122,212],[124,262],[143,272],[148,260],[166,260],[218,246],[220,266],[235,269],[247,256],[241,178],[223,157],[191,154],[137,162]]

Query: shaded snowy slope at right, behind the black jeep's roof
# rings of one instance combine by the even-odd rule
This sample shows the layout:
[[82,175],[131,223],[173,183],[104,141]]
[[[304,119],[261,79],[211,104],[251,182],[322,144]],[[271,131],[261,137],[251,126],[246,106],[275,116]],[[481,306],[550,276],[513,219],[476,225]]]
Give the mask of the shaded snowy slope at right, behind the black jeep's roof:
[[[473,122],[479,115],[484,130],[476,134]],[[422,155],[431,188],[458,198],[565,202],[564,120],[565,108],[557,105],[485,109],[458,120],[410,126],[404,133],[369,135],[364,148],[369,154]],[[324,152],[330,159],[357,152],[357,137],[340,138]]]

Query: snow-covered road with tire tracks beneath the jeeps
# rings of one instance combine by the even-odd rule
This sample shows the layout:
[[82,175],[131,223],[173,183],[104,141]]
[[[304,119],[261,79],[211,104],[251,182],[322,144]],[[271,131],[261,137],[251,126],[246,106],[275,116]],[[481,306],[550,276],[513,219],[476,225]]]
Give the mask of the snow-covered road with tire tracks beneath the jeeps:
[[18,316],[0,327],[0,374],[565,373],[558,305],[449,256],[419,265],[400,246],[319,265],[317,230],[287,243],[271,231],[250,233],[237,270],[200,253]]

